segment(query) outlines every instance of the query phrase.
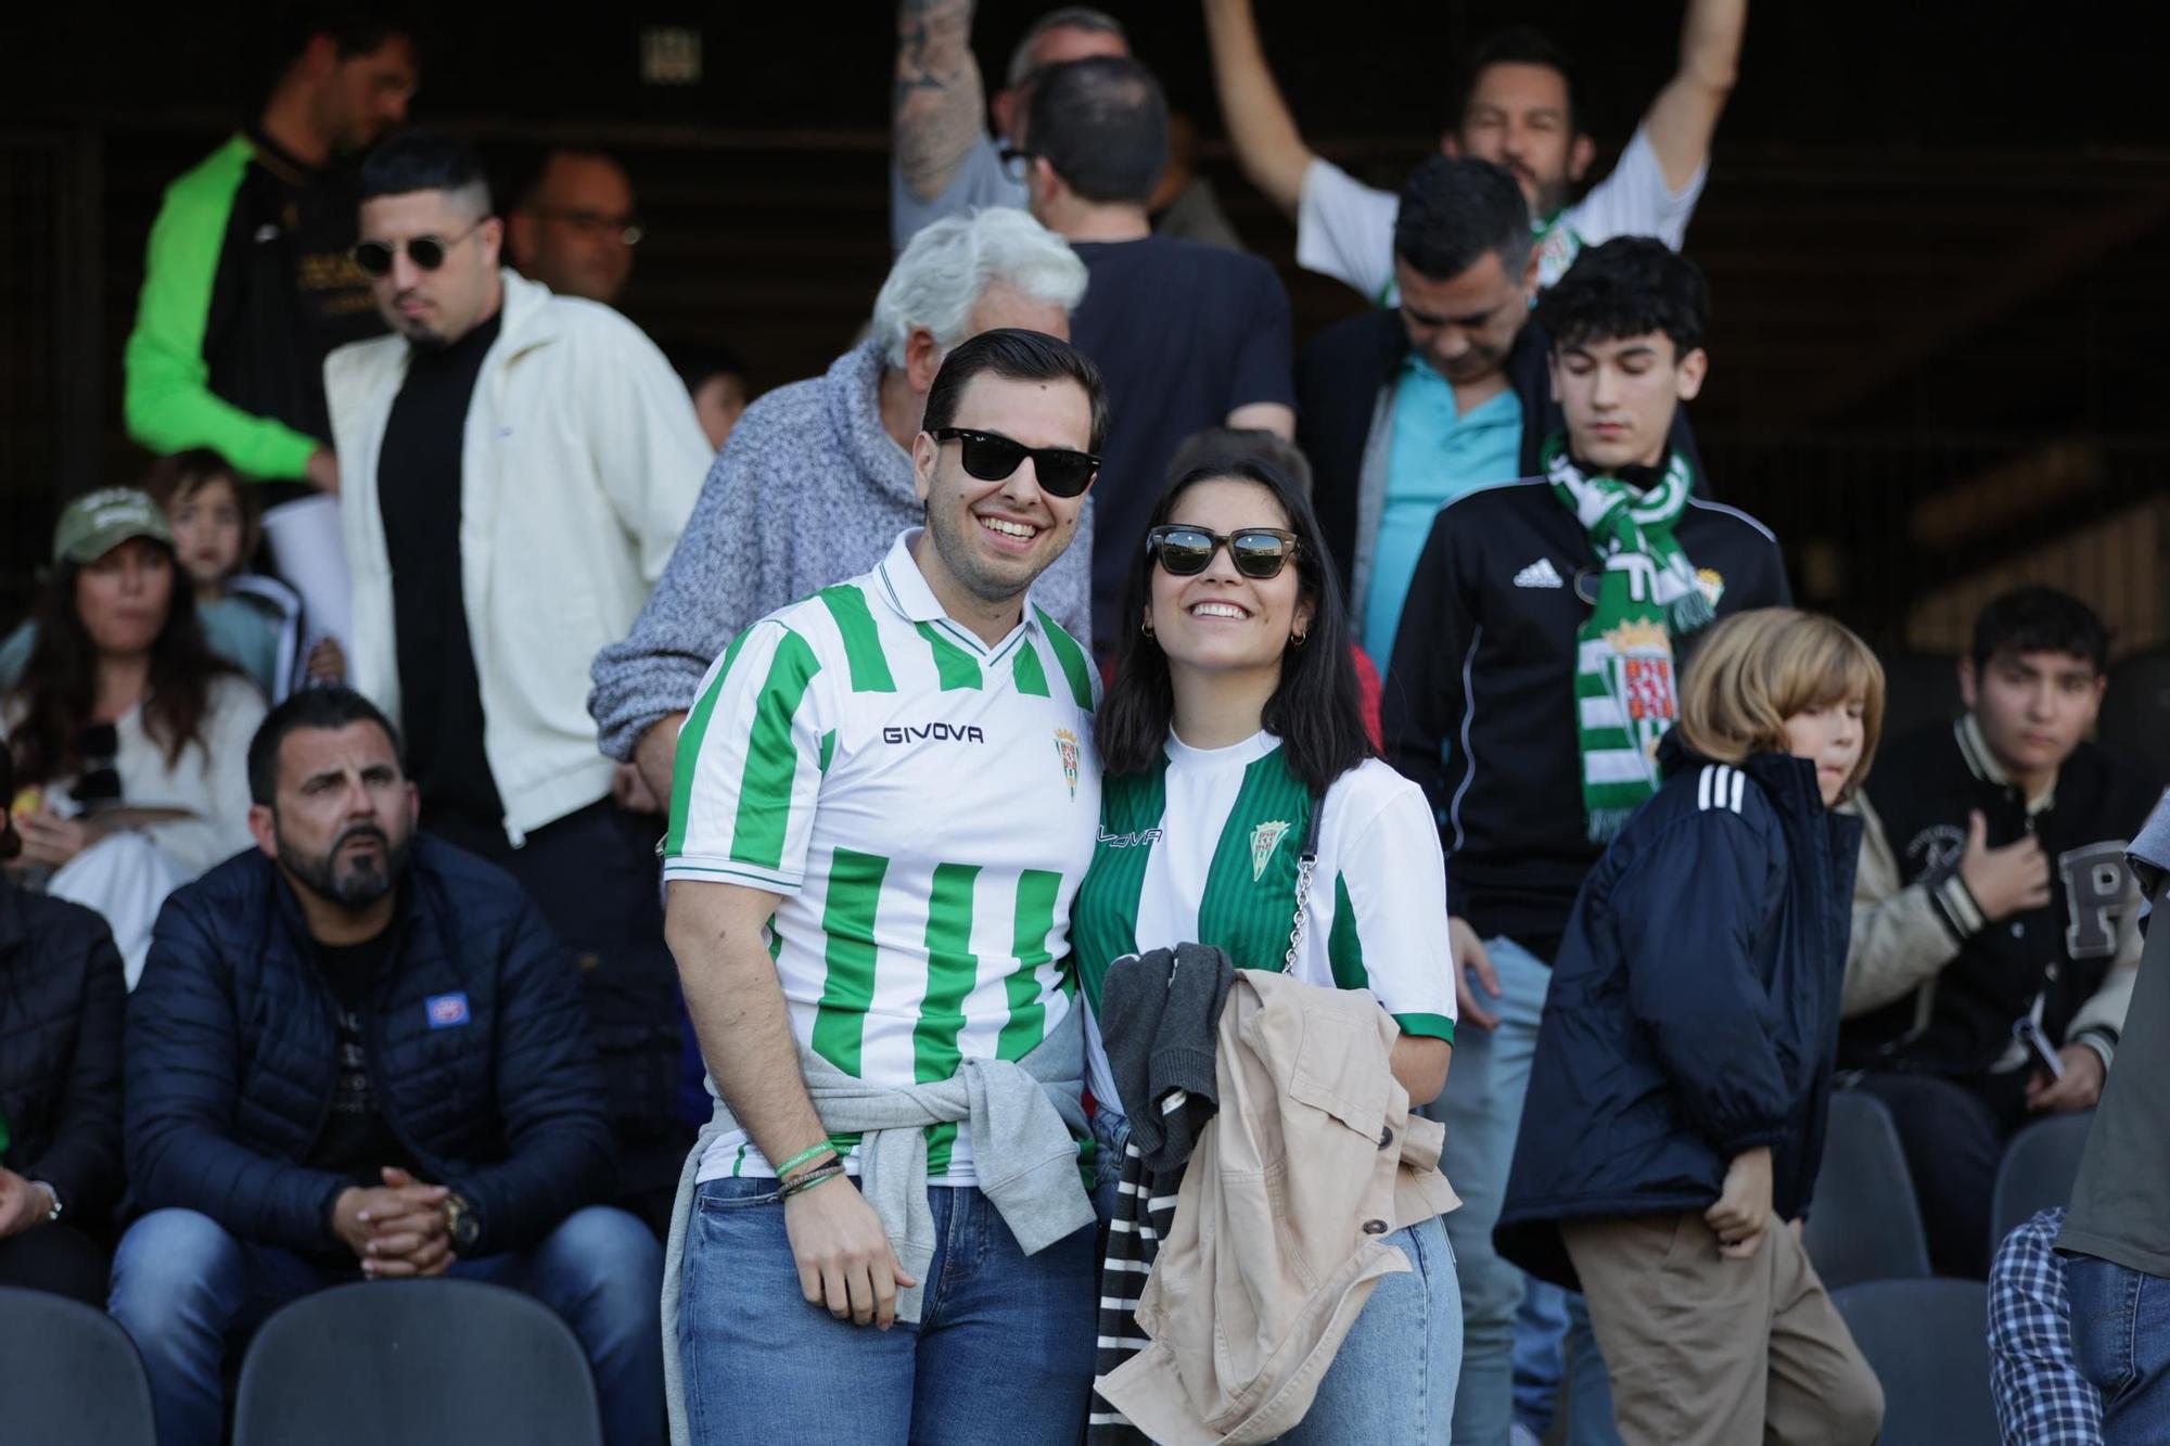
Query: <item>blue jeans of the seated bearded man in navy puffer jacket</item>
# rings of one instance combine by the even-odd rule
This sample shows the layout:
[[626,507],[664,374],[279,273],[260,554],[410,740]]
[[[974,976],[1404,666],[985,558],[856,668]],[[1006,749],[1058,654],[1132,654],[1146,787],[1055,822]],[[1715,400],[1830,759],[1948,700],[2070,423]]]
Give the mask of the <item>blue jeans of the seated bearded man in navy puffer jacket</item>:
[[[447,1274],[525,1292],[588,1348],[610,1446],[664,1431],[662,1248],[623,1209],[577,1209],[532,1251]],[[358,1279],[358,1277],[349,1277]],[[341,1283],[323,1261],[230,1235],[193,1209],[154,1209],[122,1235],[106,1303],[143,1353],[161,1446],[217,1446],[228,1350],[271,1311]]]

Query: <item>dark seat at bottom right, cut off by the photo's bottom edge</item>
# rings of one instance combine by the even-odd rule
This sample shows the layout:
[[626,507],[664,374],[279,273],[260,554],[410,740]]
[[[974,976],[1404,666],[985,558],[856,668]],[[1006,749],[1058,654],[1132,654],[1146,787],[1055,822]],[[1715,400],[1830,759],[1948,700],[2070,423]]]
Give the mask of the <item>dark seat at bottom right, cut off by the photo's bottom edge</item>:
[[1996,1446],[1981,1281],[1862,1281],[1831,1303],[1884,1383],[1879,1446]]

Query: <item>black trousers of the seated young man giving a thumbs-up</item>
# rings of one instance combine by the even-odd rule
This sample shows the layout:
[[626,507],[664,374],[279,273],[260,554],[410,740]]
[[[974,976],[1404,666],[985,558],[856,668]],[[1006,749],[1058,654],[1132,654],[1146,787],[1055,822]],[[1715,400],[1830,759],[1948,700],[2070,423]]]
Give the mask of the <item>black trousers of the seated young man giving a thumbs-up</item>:
[[2027,1070],[2005,1075],[1862,1075],[1899,1125],[1914,1198],[1920,1203],[1929,1266],[1938,1274],[1983,1281],[1990,1274],[1990,1196],[2005,1144],[2033,1116]]

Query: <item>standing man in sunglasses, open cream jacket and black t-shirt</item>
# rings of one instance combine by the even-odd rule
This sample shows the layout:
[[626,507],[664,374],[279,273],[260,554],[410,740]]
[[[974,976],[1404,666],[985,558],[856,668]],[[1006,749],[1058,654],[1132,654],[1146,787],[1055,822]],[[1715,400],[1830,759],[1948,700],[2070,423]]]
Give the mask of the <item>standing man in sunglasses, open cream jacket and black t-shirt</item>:
[[503,226],[462,141],[380,145],[360,234],[354,265],[395,334],[326,363],[352,677],[399,721],[421,827],[519,877],[588,964],[597,1023],[638,1025],[612,1027],[636,1042],[603,1066],[629,1090],[614,1090],[627,1192],[666,1192],[684,1140],[664,1125],[662,825],[614,801],[582,703],[588,662],[631,627],[686,528],[707,439],[631,321],[499,265]]

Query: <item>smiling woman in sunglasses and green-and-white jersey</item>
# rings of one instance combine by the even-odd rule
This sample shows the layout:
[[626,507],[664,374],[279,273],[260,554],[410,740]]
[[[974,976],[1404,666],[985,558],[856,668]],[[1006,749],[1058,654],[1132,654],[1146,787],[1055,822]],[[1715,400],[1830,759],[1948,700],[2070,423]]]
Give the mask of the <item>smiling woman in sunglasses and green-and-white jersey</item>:
[[[1237,968],[1289,966],[1313,808],[1317,866],[1293,975],[1369,990],[1402,1027],[1395,1079],[1410,1103],[1430,1103],[1454,1042],[1439,829],[1424,792],[1371,751],[1341,582],[1311,504],[1256,447],[1230,439],[1161,495],[1096,738],[1100,840],[1070,938],[1102,1214],[1131,1133],[1098,1023],[1109,962],[1196,940]],[[1447,1437],[1463,1342],[1454,1255],[1437,1218],[1389,1240],[1413,1270],[1371,1292],[1285,1442]]]

